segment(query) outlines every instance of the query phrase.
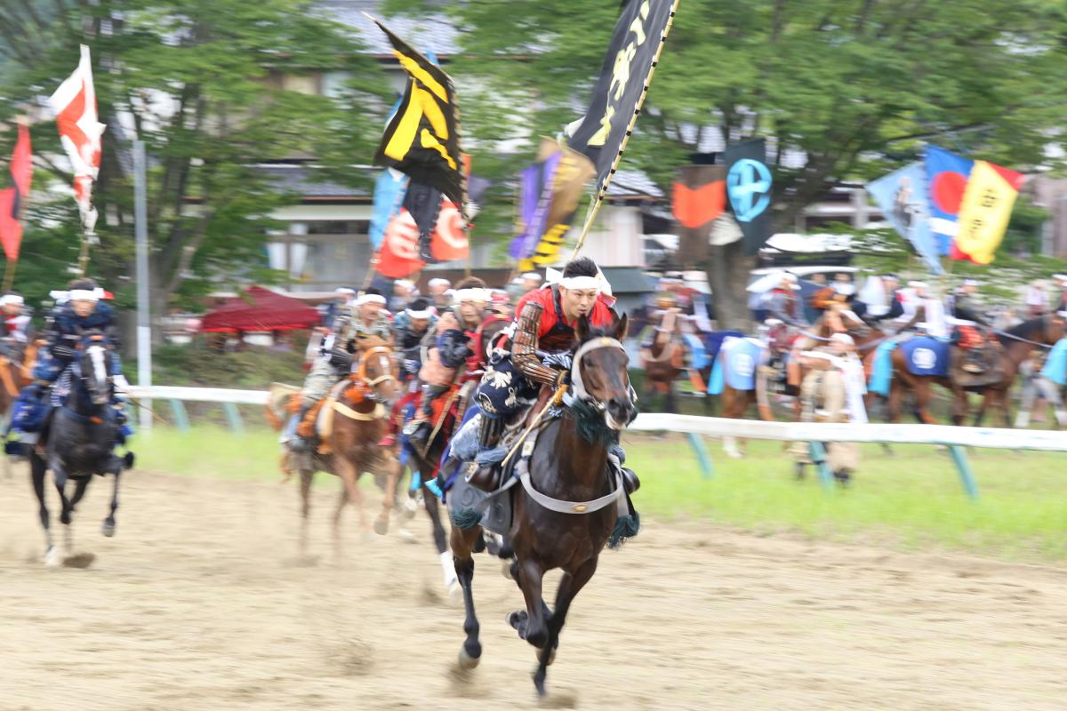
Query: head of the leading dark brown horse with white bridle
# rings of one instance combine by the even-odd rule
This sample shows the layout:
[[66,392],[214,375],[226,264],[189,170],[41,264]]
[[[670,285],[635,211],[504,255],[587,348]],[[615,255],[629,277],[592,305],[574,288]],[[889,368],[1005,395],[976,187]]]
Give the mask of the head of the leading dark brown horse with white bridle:
[[604,423],[615,431],[625,429],[637,416],[626,371],[630,356],[622,345],[626,326],[625,316],[607,329],[592,328],[586,317],[578,319],[578,345],[571,365],[575,399],[603,413]]

